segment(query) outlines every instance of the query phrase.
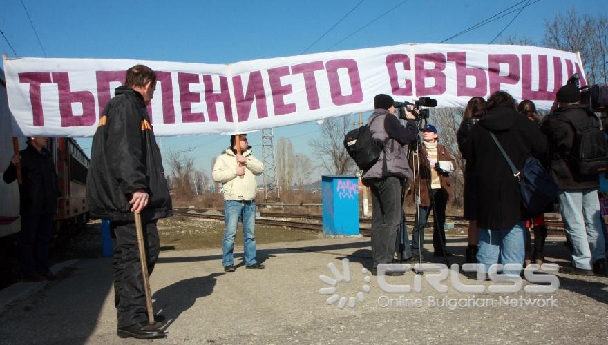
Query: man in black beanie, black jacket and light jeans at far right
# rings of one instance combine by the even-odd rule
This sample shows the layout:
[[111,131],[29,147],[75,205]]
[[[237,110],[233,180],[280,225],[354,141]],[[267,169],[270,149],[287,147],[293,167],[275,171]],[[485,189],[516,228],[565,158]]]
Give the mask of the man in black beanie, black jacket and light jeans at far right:
[[562,270],[578,275],[593,275],[594,271],[606,275],[598,174],[580,175],[570,159],[575,137],[573,124],[599,128],[599,120],[580,106],[580,92],[575,85],[562,86],[556,101],[558,108],[547,117],[542,131],[549,139],[551,172],[560,188],[558,199],[564,230],[573,247],[573,266]]

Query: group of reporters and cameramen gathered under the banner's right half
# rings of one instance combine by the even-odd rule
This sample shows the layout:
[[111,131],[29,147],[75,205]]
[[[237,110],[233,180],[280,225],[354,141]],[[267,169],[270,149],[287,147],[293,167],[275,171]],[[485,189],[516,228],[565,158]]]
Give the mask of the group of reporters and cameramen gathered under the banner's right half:
[[[401,146],[412,146],[417,140],[418,134],[412,129],[416,126],[414,116],[408,111],[406,124],[393,124],[397,119],[389,115],[395,114],[395,108],[392,99],[387,97],[390,96],[377,95],[376,110],[370,117],[370,123],[379,115],[386,117],[384,126],[370,126],[374,138],[385,143],[384,154],[374,168],[363,172],[364,184],[370,186],[374,203],[372,273],[377,272],[379,264],[395,262],[394,246],[390,244],[397,241],[395,234],[400,219],[393,208],[399,202],[397,208],[403,207],[404,199],[398,197],[401,188],[408,190],[408,201],[417,206],[410,242],[412,255],[406,260],[419,255],[424,242],[421,233],[430,212],[435,219],[434,255],[452,255],[446,250],[444,230],[451,190],[450,171],[442,166],[446,162],[453,164],[454,158],[439,144],[438,131],[433,125],[421,128],[422,145],[410,150],[407,157],[408,152]],[[383,99],[385,101],[378,101]],[[577,165],[575,151],[581,148],[576,137],[581,128],[602,130],[600,119],[580,104],[580,90],[571,83],[556,92],[553,108],[544,117],[533,101],[524,99],[517,103],[504,91],[493,93],[487,100],[473,97],[468,101],[457,131],[458,148],[466,161],[463,193],[463,216],[469,221],[466,262],[483,264],[486,270],[493,264],[516,264],[522,268],[537,264],[538,269],[542,269],[547,238],[544,213],[530,214],[524,207],[520,179],[513,175],[509,165],[522,171],[526,159],[535,157],[549,170],[558,186],[555,204],[559,205],[564,221],[572,259],[571,266],[562,266],[560,270],[576,275],[608,275],[605,224],[598,196],[600,172],[582,172]],[[401,145],[391,145],[390,140]],[[395,166],[392,162],[400,161],[401,170],[381,170],[387,161],[391,167]],[[403,164],[404,161],[409,164]],[[417,172],[416,176],[412,176],[412,170]],[[390,187],[379,188],[391,180],[394,182]],[[391,197],[390,202],[386,200],[387,195]],[[552,206],[548,204],[547,211]],[[503,273],[520,274],[521,270]]]

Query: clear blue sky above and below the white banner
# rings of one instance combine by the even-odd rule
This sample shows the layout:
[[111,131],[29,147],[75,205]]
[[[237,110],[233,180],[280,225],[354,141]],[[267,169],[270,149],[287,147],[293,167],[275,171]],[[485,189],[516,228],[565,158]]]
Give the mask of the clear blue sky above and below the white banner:
[[[571,8],[591,15],[608,11],[605,0],[1,0],[0,52],[9,57],[234,63],[440,43],[511,6],[506,11],[514,11],[511,14],[444,43],[504,43],[506,37],[515,37],[540,45],[544,23],[556,13]],[[319,137],[319,129],[316,122],[274,128],[274,141],[287,137],[296,154],[314,161],[309,142]],[[250,133],[248,139],[254,155],[262,159],[261,132]],[[90,152],[91,139],[77,141]],[[210,176],[211,159],[227,148],[229,137],[190,135],[158,141],[165,158],[169,150],[190,155],[198,170]],[[165,170],[170,171],[167,164]],[[318,170],[311,180],[321,179],[322,173]]]

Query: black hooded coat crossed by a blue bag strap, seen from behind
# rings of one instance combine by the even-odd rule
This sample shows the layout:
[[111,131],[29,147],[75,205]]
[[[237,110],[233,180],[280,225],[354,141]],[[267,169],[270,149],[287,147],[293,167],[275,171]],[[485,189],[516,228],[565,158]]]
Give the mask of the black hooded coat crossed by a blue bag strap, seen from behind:
[[462,154],[477,172],[477,223],[484,229],[512,228],[524,220],[520,186],[498,150],[493,132],[518,170],[530,155],[542,159],[547,138],[515,109],[493,108],[471,128]]

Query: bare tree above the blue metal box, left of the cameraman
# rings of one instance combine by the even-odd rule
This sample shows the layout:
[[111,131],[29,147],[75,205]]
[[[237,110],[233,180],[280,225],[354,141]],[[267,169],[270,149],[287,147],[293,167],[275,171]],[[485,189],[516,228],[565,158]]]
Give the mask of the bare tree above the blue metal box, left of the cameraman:
[[336,175],[354,173],[356,166],[343,144],[346,133],[352,129],[350,116],[325,119],[320,126],[319,139],[309,143],[317,154],[316,161],[327,172]]

